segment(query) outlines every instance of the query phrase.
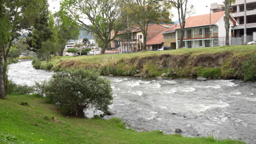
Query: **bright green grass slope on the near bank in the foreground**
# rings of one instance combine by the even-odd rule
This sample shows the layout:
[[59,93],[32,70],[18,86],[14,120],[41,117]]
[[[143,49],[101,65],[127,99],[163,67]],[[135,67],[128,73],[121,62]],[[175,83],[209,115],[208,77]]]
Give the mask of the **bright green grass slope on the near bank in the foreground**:
[[[20,105],[27,102],[28,106]],[[51,119],[55,117],[60,122]],[[11,135],[11,136],[8,136]],[[12,138],[15,136],[16,138]],[[5,137],[5,139],[3,138]],[[117,118],[109,121],[94,118],[67,118],[57,107],[37,95],[9,95],[0,99],[0,143],[186,143],[186,144],[241,144],[212,137],[182,137],[164,135],[160,131],[137,133],[125,129]],[[9,141],[8,141],[9,140]],[[3,142],[5,141],[5,142]]]

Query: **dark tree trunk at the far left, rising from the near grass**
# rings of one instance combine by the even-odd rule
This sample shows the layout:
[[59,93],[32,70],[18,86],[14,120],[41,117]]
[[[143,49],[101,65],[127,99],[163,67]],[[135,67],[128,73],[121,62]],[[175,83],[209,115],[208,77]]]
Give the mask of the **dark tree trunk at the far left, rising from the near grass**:
[[6,85],[5,85],[5,70],[4,70],[4,57],[3,49],[0,47],[0,99],[7,98]]

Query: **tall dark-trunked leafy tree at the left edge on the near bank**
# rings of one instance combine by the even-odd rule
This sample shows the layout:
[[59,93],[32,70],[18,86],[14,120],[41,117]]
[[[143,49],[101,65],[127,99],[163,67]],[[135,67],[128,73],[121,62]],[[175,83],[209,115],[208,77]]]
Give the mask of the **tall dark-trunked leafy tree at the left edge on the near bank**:
[[1,0],[0,2],[0,98],[7,95],[7,61],[13,40],[30,30],[38,9],[46,0]]

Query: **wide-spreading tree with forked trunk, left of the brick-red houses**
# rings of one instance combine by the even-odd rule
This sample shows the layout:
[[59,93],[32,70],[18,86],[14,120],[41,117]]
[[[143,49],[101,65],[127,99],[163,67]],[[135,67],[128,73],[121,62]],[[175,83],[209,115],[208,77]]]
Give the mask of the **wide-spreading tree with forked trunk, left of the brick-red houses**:
[[[104,46],[104,53],[110,41],[110,33],[119,31],[117,21],[120,19],[120,8],[115,0],[63,0],[61,10],[66,11],[67,16],[75,20],[82,29],[94,33]],[[89,22],[88,22],[89,21]]]

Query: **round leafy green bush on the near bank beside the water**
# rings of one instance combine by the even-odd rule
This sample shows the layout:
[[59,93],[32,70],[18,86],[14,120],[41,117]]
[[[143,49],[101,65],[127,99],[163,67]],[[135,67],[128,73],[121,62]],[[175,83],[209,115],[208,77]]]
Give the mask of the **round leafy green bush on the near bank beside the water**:
[[93,107],[106,112],[112,103],[110,82],[99,76],[94,70],[65,70],[37,89],[57,104],[64,115],[84,117],[84,110]]

